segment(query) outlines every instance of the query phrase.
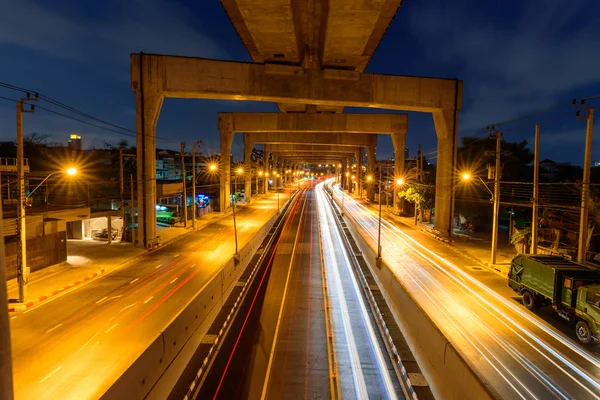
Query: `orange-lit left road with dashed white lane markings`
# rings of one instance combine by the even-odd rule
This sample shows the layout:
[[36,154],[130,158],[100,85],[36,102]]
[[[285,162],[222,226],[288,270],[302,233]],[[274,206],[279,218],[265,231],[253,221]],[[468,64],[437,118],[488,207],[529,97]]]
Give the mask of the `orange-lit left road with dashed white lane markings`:
[[[275,197],[238,208],[240,247],[276,208]],[[233,255],[233,236],[232,219],[218,220],[13,315],[15,397],[100,397]]]

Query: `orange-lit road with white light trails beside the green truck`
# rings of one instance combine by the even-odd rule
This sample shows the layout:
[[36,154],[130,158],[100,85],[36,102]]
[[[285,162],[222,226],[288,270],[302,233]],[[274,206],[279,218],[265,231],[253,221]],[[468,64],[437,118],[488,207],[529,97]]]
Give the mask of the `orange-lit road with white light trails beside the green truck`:
[[[376,214],[345,196],[346,215],[376,249]],[[497,397],[600,398],[598,348],[582,347],[525,310],[506,277],[385,219],[381,243],[396,277]]]

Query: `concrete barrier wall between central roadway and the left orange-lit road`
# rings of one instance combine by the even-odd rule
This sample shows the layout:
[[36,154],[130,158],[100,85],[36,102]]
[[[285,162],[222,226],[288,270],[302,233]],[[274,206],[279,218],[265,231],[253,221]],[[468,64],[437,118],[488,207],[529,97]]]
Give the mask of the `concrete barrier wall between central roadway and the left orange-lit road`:
[[[288,200],[289,201],[289,200]],[[285,207],[285,205],[284,205]],[[275,214],[166,324],[152,344],[104,393],[102,399],[167,398],[224,302],[279,214]]]

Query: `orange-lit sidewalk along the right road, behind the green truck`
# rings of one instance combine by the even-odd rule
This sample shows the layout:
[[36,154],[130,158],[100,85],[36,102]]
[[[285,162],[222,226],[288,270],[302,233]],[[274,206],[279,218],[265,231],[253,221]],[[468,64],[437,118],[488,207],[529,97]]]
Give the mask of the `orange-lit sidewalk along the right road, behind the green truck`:
[[[364,199],[360,201],[372,211],[378,212],[378,204],[369,203]],[[386,210],[385,207],[383,208],[383,215],[387,220],[400,222],[406,227],[421,231],[437,240],[440,240],[441,242],[444,242],[446,246],[460,252],[463,256],[470,258],[476,263],[486,266],[487,268],[493,269],[502,275],[508,275],[510,270],[510,262],[513,257],[517,255],[516,249],[508,241],[507,232],[500,232],[498,236],[496,264],[492,265],[490,264],[492,251],[491,232],[482,232],[481,234],[469,235],[466,232],[455,229],[455,235],[452,237],[452,240],[449,241],[447,238],[439,236],[431,226],[425,224],[419,224],[415,226],[414,217],[397,216],[392,214],[391,208]]]

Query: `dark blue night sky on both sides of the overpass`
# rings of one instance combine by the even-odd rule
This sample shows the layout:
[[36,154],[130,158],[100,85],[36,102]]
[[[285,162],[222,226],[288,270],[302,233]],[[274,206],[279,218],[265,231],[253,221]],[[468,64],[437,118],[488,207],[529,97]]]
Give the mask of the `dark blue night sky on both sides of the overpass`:
[[[404,0],[367,72],[462,79],[459,128],[461,136],[469,136],[492,123],[600,94],[598,15],[600,2],[594,0]],[[3,2],[0,81],[37,90],[131,129],[135,99],[129,53],[139,51],[249,61],[217,0]],[[0,88],[0,96],[18,95]],[[157,134],[200,139],[215,151],[219,111],[277,108],[270,103],[166,99]],[[581,164],[585,123],[576,121],[569,106],[504,124],[505,138],[533,144],[533,123],[538,120],[541,157]],[[14,105],[0,101],[0,140],[13,139],[14,132]],[[25,132],[48,133],[56,142],[77,132],[86,147],[121,139],[43,110],[26,115]],[[127,139],[133,144],[134,139]],[[433,121],[430,114],[410,113],[411,155],[419,143],[426,153],[435,151]],[[380,136],[378,154],[391,154],[389,139]],[[600,159],[600,138],[594,159]]]

